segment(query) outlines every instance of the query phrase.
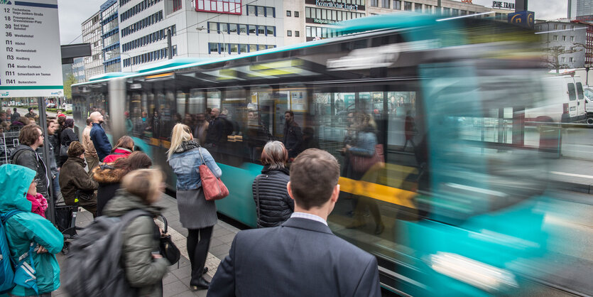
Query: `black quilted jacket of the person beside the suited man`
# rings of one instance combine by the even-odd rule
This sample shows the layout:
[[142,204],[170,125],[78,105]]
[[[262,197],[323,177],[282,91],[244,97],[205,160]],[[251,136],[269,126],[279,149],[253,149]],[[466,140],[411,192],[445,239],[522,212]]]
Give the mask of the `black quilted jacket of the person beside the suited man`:
[[[295,202],[288,195],[288,169],[271,170],[263,167],[252,185],[257,211],[257,227],[281,225],[295,210]],[[259,199],[258,199],[259,198]]]

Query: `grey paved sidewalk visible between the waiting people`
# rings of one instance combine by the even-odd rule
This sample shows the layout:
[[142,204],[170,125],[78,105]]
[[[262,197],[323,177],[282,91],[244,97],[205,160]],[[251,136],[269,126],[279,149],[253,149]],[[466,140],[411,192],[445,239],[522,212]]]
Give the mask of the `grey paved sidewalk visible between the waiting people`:
[[[167,218],[169,224],[168,233],[171,234],[171,237],[173,237],[173,242],[175,242],[182,254],[182,257],[179,261],[179,266],[178,264],[169,266],[169,272],[163,278],[163,296],[206,296],[206,290],[190,290],[191,267],[190,260],[187,257],[187,248],[185,242],[187,237],[187,229],[181,227],[181,223],[179,222],[176,200],[168,195],[163,194],[163,199],[158,202],[158,205],[165,207],[163,210],[163,215]],[[92,215],[81,208],[81,211],[79,211],[77,215],[76,225],[85,227],[90,222],[92,222]],[[159,219],[157,221],[157,225],[163,227],[163,222],[161,222]],[[219,220],[217,225],[214,226],[214,233],[212,234],[212,239],[210,240],[210,251],[206,260],[206,266],[209,270],[205,278],[208,281],[210,281],[212,276],[214,276],[220,260],[224,259],[224,257],[229,254],[229,249],[231,248],[231,243],[236,232],[239,232],[239,229],[236,229],[235,227],[232,227],[221,220]],[[58,262],[60,263],[60,266],[62,266],[62,261],[64,261],[64,259],[65,256],[63,254],[58,254]],[[63,276],[61,277],[63,278]],[[68,295],[65,293],[63,288],[59,288],[57,291],[53,292],[53,296],[63,297]]]

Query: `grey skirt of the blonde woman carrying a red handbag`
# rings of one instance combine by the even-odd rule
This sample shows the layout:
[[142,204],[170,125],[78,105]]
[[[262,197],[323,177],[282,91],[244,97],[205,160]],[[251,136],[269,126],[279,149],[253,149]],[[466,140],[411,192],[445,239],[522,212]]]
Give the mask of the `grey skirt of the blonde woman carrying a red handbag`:
[[202,229],[216,225],[216,204],[207,201],[202,188],[178,190],[177,207],[181,225],[187,229]]

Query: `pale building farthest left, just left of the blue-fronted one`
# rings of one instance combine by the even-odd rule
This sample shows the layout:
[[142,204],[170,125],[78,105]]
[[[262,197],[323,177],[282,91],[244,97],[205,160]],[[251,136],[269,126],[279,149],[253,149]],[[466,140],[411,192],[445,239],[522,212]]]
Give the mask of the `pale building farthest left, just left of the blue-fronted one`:
[[101,13],[97,11],[82,23],[82,42],[90,43],[91,55],[85,57],[85,77],[101,75],[105,72],[103,66],[103,41],[101,39]]

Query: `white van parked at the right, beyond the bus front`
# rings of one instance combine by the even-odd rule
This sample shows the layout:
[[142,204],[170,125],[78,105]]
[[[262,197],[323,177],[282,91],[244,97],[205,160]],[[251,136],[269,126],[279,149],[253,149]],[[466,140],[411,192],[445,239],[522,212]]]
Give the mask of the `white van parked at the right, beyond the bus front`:
[[525,110],[526,121],[575,123],[587,119],[579,76],[546,77],[543,85],[548,96],[540,107]]

